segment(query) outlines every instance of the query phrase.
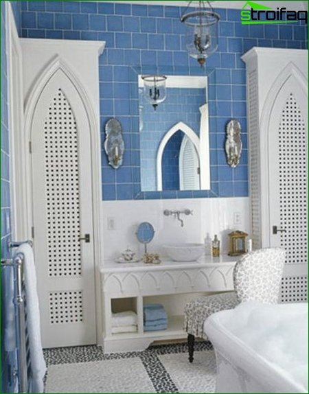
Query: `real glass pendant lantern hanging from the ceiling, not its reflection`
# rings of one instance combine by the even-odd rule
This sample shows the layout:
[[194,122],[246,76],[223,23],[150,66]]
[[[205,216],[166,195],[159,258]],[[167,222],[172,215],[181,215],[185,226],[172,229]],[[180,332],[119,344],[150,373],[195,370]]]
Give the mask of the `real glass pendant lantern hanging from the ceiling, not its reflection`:
[[[185,46],[188,53],[203,67],[206,59],[218,48],[218,21],[220,16],[214,12],[209,1],[198,1],[198,8],[187,12],[190,5],[181,16],[181,22],[187,27]],[[207,3],[209,8],[205,8]]]

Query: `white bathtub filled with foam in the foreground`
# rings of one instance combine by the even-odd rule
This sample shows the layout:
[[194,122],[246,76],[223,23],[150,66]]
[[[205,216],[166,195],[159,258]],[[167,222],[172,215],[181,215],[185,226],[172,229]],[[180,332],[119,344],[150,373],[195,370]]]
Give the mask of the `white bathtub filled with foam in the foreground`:
[[216,393],[308,393],[308,304],[247,302],[211,315]]

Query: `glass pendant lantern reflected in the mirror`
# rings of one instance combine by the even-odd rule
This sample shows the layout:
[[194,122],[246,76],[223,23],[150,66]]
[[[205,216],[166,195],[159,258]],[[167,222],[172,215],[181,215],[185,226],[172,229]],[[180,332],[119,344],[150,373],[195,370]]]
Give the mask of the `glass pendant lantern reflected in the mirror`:
[[166,77],[142,76],[141,78],[144,80],[144,96],[156,111],[158,104],[163,102],[166,98]]

